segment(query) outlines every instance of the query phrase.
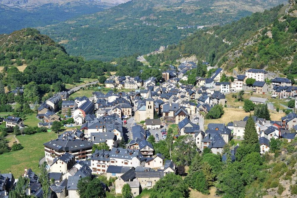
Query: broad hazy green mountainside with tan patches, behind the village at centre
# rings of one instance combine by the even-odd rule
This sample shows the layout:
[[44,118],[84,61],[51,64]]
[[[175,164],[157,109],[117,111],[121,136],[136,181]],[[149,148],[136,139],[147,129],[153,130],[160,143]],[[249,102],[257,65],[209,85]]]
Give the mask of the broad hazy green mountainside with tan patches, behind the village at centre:
[[63,43],[72,55],[111,60],[135,52],[147,53],[160,45],[178,43],[195,32],[198,25],[230,23],[279,3],[286,1],[133,0],[39,30]]

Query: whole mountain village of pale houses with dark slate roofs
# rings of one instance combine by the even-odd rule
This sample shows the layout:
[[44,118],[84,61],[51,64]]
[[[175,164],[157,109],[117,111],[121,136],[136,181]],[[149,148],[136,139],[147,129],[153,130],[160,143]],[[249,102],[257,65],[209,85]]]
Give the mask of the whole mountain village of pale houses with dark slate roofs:
[[[204,63],[207,64],[207,63]],[[124,184],[129,184],[132,196],[138,196],[143,189],[151,189],[155,183],[168,173],[177,174],[177,166],[154,150],[149,141],[159,142],[167,138],[171,125],[177,131],[172,135],[173,142],[180,136],[188,135],[188,142],[197,146],[196,152],[208,148],[214,154],[222,155],[224,146],[232,139],[242,140],[249,116],[230,123],[209,123],[204,126],[204,115],[215,106],[228,105],[225,94],[230,92],[251,91],[255,94],[271,93],[272,98],[294,98],[297,87],[289,79],[274,78],[266,83],[265,70],[249,69],[245,75],[238,75],[233,82],[220,82],[223,69],[217,68],[211,78],[196,78],[196,84],[183,85],[187,80],[186,72],[196,68],[194,62],[183,62],[177,68],[162,73],[163,81],[157,82],[152,76],[140,79],[138,76],[110,76],[105,88],[117,90],[107,93],[93,92],[92,97],[81,96],[69,100],[69,92],[60,92],[46,100],[38,108],[36,117],[38,127],[50,129],[54,122],[60,121],[57,114],[73,118],[76,127],[57,134],[57,138],[45,142],[44,154],[40,163],[46,163],[51,197],[75,198],[78,194],[78,181],[92,175],[114,178],[112,188],[121,194]],[[254,79],[247,84],[247,79]],[[121,92],[130,89],[129,92]],[[23,88],[12,91],[22,94]],[[267,104],[275,111],[273,104],[266,98],[251,97],[255,104]],[[61,102],[61,109],[58,103]],[[296,100],[297,101],[297,100]],[[297,105],[297,102],[295,103]],[[297,114],[290,112],[281,120],[266,120],[252,116],[258,133],[260,153],[269,151],[271,138],[293,140],[297,131]],[[8,116],[0,119],[6,127],[25,127],[20,117]],[[168,134],[169,135],[169,134]],[[122,145],[124,139],[127,144]],[[94,145],[107,145],[105,149],[94,149]],[[235,160],[239,144],[230,148],[230,158]],[[185,153],[185,155],[187,155]],[[38,175],[30,167],[23,167],[23,176],[29,179],[26,194],[43,197],[42,184]],[[0,172],[0,197],[9,197],[15,185],[13,173]],[[105,186],[105,191],[110,189]]]

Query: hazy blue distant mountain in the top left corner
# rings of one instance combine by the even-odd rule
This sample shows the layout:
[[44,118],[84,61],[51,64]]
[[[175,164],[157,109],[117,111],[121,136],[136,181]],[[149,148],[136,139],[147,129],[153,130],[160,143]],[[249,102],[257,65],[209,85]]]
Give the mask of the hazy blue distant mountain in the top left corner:
[[0,33],[50,25],[129,0],[0,0]]

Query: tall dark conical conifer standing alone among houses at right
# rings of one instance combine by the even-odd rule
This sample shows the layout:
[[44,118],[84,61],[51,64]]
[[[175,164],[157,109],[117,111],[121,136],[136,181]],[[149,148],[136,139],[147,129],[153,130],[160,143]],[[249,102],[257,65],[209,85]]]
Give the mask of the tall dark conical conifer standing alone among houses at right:
[[255,122],[252,116],[249,115],[249,119],[247,120],[247,124],[245,125],[243,143],[255,144],[258,142],[259,142],[259,139],[258,139],[256,127],[255,127]]

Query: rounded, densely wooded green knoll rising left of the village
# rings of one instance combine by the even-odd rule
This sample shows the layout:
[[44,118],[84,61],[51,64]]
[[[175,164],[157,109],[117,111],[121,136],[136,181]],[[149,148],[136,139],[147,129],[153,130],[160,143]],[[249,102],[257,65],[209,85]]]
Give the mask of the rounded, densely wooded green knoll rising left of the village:
[[[114,71],[110,63],[69,56],[64,47],[32,28],[0,35],[0,65],[4,66],[0,79],[11,87],[33,81],[41,87],[59,81],[72,84],[80,78],[97,78],[105,71]],[[25,67],[23,72],[19,66]]]

